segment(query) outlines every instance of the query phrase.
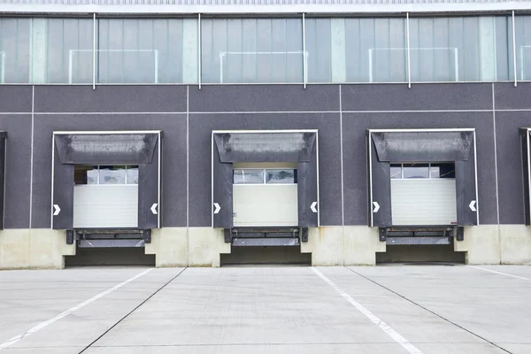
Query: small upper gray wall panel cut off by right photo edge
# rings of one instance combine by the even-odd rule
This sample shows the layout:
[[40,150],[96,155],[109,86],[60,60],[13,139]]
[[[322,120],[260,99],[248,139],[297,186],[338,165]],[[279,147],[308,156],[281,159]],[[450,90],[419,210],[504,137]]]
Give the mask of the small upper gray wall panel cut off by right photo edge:
[[496,110],[518,110],[531,108],[531,82],[494,84]]

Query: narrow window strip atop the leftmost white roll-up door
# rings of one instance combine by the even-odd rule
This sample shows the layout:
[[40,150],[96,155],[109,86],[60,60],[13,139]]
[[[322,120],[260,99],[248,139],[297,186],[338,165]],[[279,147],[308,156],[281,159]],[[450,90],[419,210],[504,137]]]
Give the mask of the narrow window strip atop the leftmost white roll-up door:
[[74,183],[81,184],[138,184],[137,165],[75,165]]

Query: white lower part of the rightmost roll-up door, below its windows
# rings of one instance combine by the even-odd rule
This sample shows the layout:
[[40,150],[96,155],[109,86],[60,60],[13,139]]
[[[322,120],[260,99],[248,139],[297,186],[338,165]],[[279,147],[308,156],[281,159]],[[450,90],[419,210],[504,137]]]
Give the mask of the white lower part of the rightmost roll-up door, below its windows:
[[391,180],[391,212],[396,226],[454,225],[456,180]]

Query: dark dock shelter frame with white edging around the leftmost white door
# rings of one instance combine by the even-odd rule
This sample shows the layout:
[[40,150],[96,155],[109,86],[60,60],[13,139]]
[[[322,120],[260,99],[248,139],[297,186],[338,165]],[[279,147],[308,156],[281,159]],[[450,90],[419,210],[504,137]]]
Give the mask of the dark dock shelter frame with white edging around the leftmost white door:
[[[135,208],[138,210],[138,222],[132,228],[150,230],[160,227],[161,138],[161,131],[54,132],[52,228],[65,230],[75,228],[73,225],[75,165],[137,165],[138,199],[137,202],[135,200]],[[87,232],[91,227],[82,228]],[[93,228],[98,229],[95,234],[101,234],[102,227]],[[112,234],[118,232],[119,226],[114,227],[116,228],[114,230],[112,226],[104,228],[109,228],[109,233]],[[72,231],[70,234],[72,238]]]

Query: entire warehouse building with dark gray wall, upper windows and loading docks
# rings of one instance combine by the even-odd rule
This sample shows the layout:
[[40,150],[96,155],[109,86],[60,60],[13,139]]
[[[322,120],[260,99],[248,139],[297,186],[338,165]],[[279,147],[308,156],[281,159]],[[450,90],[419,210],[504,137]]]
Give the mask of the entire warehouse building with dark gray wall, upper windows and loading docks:
[[0,268],[531,263],[531,2],[0,1]]

